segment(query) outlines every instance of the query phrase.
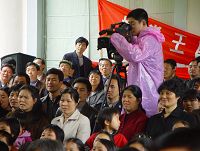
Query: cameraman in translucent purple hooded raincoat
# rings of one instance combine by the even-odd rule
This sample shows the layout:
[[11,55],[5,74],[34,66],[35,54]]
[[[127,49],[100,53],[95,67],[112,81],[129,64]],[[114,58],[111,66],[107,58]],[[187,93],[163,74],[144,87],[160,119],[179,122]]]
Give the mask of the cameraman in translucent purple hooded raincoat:
[[157,88],[163,81],[162,42],[165,38],[158,28],[148,27],[148,14],[144,9],[132,10],[128,16],[132,27],[131,43],[119,33],[111,35],[111,42],[119,54],[128,61],[128,85],[137,85],[143,93],[142,106],[148,116],[157,112]]

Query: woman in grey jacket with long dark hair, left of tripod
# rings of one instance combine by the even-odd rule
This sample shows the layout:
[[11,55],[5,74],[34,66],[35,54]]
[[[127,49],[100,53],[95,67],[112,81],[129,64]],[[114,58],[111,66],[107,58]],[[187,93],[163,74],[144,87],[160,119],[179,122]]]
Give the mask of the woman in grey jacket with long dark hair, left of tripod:
[[98,70],[93,70],[89,74],[89,81],[92,86],[91,95],[88,97],[88,104],[94,107],[99,104],[99,100],[103,100],[104,97],[104,85],[101,73]]

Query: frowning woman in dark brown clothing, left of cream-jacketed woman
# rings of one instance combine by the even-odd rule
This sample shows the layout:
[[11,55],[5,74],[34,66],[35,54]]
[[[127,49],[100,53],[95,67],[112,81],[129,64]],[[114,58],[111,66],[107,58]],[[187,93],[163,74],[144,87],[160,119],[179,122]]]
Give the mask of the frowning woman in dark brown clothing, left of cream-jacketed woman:
[[42,130],[48,125],[48,120],[42,112],[42,104],[39,98],[39,90],[34,86],[24,85],[19,90],[19,109],[13,116],[16,117],[22,129],[31,133],[32,140],[40,138]]

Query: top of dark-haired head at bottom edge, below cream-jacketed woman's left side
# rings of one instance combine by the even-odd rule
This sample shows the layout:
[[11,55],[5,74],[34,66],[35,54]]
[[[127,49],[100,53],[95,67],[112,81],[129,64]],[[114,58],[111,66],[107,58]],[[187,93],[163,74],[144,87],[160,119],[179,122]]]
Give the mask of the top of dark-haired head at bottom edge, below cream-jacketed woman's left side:
[[26,151],[65,151],[60,141],[50,139],[37,139],[28,145]]

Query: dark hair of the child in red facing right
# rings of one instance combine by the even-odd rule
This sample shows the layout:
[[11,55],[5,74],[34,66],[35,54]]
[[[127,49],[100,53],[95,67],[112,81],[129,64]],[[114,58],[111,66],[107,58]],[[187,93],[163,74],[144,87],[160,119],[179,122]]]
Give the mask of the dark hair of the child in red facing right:
[[105,128],[105,121],[111,122],[114,114],[119,114],[118,109],[106,107],[103,110],[100,110],[97,117],[98,125],[102,129]]

